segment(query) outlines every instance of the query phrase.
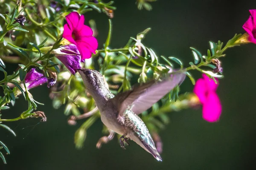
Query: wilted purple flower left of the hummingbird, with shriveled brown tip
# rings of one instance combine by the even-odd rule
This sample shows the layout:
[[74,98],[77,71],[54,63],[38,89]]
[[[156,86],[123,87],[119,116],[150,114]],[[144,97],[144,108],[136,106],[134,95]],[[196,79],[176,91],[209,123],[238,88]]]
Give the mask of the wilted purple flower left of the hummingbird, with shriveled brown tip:
[[52,85],[54,85],[56,82],[56,80],[53,78],[47,79],[44,76],[44,74],[39,73],[35,68],[31,68],[29,70],[29,72],[26,74],[24,81],[26,83],[27,89],[35,88],[47,82],[48,82],[47,87],[49,88]]

